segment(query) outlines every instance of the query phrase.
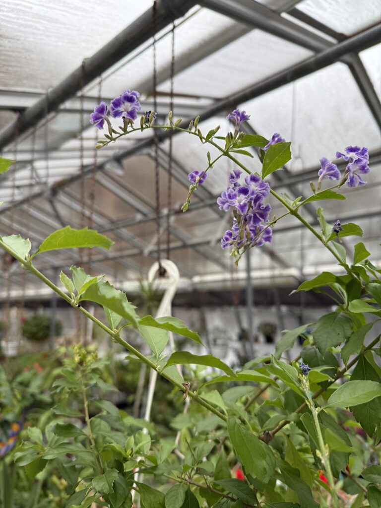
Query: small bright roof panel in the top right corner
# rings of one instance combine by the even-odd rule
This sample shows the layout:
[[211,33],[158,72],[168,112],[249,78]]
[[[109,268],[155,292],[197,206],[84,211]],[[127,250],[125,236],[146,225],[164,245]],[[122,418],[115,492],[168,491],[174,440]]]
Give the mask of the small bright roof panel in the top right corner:
[[345,35],[381,21],[379,0],[305,0],[297,8]]

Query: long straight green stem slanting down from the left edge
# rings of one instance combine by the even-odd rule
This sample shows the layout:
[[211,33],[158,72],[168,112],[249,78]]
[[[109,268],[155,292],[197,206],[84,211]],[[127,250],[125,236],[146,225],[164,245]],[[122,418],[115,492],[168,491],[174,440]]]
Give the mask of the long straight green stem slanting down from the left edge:
[[[179,383],[175,378],[167,374],[167,372],[162,371],[160,367],[158,367],[156,364],[151,362],[148,358],[146,358],[142,353],[140,353],[139,350],[137,350],[134,346],[123,340],[120,335],[114,331],[108,328],[102,321],[98,320],[95,316],[90,314],[86,309],[83,307],[78,307],[73,300],[66,294],[63,293],[51,280],[49,280],[47,277],[45,277],[44,274],[42,274],[37,268],[35,268],[30,260],[25,261],[21,256],[17,254],[11,247],[9,247],[3,239],[0,239],[0,247],[3,247],[4,250],[10,253],[11,256],[13,256],[15,259],[17,259],[21,265],[26,269],[29,270],[31,273],[36,275],[42,282],[44,282],[49,288],[51,288],[55,293],[57,293],[63,300],[67,301],[72,307],[77,309],[79,312],[82,312],[86,317],[88,317],[89,320],[91,320],[93,323],[95,323],[99,328],[104,330],[108,335],[110,335],[115,342],[122,345],[126,349],[128,349],[131,353],[133,353],[135,356],[139,358],[142,362],[148,365],[151,369],[155,370],[158,374],[160,374],[162,377],[165,377],[170,383],[175,385],[179,390],[185,393],[185,388],[182,386],[181,383]],[[200,405],[204,406],[206,409],[214,413],[214,415],[218,416],[221,420],[224,420],[224,422],[228,421],[228,418],[218,411],[215,407],[213,407],[211,404],[206,402],[204,399],[202,399],[199,395],[189,390],[188,397],[192,398],[196,402],[198,402]]]

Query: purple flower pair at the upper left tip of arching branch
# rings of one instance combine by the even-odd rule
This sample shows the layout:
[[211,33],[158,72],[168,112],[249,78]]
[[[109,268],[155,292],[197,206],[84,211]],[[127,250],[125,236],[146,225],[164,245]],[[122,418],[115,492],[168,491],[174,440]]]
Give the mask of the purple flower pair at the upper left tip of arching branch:
[[[122,116],[123,118],[128,118],[132,121],[136,120],[138,117],[137,112],[142,109],[138,99],[139,92],[135,90],[125,90],[119,97],[116,97],[111,101],[111,116],[114,118]],[[103,129],[105,121],[107,122],[109,129],[111,129],[110,118],[107,116],[107,104],[105,102],[101,102],[101,104],[94,108],[93,113],[91,113],[90,123],[98,127],[98,129]]]

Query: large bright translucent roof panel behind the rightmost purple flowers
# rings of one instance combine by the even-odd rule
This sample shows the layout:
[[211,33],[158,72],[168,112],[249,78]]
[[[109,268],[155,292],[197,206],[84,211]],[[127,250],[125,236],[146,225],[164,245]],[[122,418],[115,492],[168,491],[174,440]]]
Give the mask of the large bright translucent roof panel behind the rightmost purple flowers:
[[379,148],[379,129],[348,68],[342,63],[241,105],[253,128],[292,141],[292,170],[335,158],[348,145]]

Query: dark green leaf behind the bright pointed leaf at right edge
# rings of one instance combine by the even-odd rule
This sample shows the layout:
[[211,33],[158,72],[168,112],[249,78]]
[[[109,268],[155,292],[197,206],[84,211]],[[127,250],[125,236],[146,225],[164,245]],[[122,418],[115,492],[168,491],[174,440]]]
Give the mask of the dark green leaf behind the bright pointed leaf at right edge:
[[[361,355],[357,362],[352,374],[351,381],[363,379],[368,381],[380,382],[380,378],[374,368],[366,360],[364,355]],[[353,416],[360,423],[361,427],[365,430],[368,436],[372,437],[376,426],[379,424],[381,415],[381,398],[375,398],[364,404],[359,404],[350,409]]]

